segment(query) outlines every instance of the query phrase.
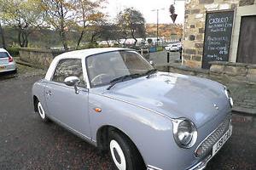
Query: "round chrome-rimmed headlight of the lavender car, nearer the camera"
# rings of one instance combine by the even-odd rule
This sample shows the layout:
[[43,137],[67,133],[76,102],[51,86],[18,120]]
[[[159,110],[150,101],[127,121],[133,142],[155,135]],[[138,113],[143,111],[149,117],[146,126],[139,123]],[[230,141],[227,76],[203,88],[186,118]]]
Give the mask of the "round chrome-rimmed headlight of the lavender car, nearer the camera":
[[179,147],[192,147],[197,139],[195,124],[185,118],[175,119],[173,121],[173,136]]

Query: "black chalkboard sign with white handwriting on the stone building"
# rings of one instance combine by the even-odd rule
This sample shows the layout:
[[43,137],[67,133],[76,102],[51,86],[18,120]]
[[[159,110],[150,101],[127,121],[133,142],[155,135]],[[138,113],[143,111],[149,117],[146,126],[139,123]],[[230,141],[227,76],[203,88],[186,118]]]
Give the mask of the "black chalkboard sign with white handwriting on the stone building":
[[207,12],[202,68],[209,69],[209,61],[228,61],[234,11]]

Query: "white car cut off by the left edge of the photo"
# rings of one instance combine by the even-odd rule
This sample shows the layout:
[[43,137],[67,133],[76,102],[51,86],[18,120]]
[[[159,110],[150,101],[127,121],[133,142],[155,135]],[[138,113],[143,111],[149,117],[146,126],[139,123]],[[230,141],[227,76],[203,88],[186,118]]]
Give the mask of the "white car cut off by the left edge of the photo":
[[0,73],[16,73],[16,64],[13,57],[3,48],[0,48]]

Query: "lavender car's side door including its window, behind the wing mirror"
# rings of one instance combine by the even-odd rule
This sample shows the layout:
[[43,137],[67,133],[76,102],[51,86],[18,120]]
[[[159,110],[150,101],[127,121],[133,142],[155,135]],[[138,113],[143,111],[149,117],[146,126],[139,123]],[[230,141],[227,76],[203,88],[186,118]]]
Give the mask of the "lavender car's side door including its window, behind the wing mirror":
[[[67,77],[79,77],[79,94],[64,83]],[[81,59],[61,59],[45,88],[49,116],[84,137],[90,138],[88,89],[85,88]]]

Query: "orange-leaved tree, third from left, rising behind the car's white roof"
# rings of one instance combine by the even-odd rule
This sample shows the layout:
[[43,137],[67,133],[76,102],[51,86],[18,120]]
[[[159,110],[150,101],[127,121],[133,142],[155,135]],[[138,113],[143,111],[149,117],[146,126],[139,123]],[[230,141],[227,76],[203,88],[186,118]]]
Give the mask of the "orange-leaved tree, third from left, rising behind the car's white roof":
[[77,49],[84,37],[84,33],[87,31],[88,26],[96,26],[99,21],[102,21],[105,17],[99,10],[102,8],[102,3],[105,0],[90,1],[90,0],[76,0],[75,14],[77,30],[79,31],[79,39],[77,42]]

